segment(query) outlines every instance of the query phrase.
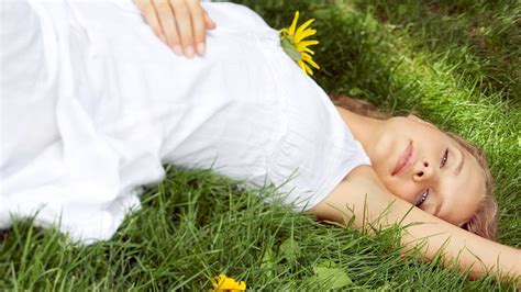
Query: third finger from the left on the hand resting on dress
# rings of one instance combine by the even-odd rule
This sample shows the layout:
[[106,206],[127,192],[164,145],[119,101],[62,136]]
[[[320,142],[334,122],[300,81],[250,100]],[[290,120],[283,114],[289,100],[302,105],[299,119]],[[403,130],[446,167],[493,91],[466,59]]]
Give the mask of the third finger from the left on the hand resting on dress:
[[193,31],[190,10],[185,1],[170,0],[174,15],[176,15],[177,30],[182,44],[185,56],[191,58],[196,53],[193,47]]

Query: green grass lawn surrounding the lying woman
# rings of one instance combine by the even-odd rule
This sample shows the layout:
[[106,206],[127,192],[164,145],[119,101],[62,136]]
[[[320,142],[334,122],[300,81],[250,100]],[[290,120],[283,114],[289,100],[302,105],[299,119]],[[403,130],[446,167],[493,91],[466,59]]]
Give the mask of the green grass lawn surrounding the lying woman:
[[[396,113],[414,111],[483,147],[501,243],[521,248],[521,2],[240,1],[274,27],[315,18],[317,81]],[[0,239],[0,290],[208,290],[226,273],[267,291],[516,290],[402,258],[374,237],[267,205],[211,171],[171,167],[110,242],[75,246],[18,222]],[[324,281],[324,274],[339,281]]]

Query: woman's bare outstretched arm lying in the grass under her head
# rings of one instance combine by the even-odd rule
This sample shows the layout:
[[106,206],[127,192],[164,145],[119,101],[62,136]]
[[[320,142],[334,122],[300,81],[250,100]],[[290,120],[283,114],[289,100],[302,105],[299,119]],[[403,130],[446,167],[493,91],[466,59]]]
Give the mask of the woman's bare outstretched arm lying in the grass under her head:
[[412,207],[410,203],[389,193],[367,166],[352,171],[310,212],[341,223],[354,215],[354,226],[357,228],[363,228],[365,223],[381,217],[386,212],[387,215],[380,221],[384,226],[399,224],[406,227],[401,237],[406,249],[414,248],[425,240],[421,250],[426,258],[432,259],[443,248],[444,262],[451,263],[458,259],[459,270],[469,269],[472,278],[498,270],[501,279],[521,277],[521,250],[479,237]]

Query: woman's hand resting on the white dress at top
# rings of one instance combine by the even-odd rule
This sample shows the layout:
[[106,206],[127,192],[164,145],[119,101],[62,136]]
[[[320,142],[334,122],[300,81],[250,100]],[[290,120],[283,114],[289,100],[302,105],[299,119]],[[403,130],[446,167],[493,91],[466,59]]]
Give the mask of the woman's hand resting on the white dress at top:
[[177,55],[204,54],[207,30],[215,29],[199,0],[134,0],[154,33]]

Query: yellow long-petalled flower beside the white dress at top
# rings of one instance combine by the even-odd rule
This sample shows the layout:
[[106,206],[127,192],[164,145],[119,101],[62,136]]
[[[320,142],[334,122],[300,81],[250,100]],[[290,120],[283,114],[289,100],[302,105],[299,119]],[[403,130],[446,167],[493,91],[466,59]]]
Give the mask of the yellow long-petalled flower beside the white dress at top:
[[[313,61],[311,57],[314,52],[309,46],[317,45],[319,41],[309,40],[304,41],[306,37],[312,36],[317,33],[317,30],[308,27],[314,19],[308,20],[297,29],[297,22],[299,20],[299,12],[295,12],[293,22],[289,27],[280,30],[280,45],[284,50],[302,68],[304,74],[313,75],[313,71],[309,67],[320,69],[319,65]],[[308,65],[309,64],[309,65]]]

